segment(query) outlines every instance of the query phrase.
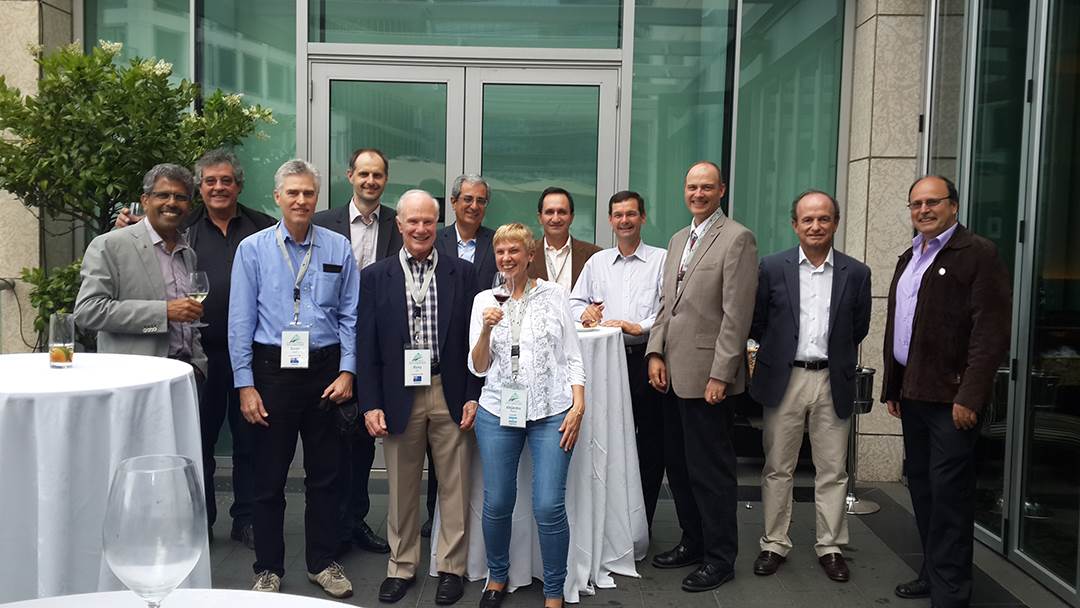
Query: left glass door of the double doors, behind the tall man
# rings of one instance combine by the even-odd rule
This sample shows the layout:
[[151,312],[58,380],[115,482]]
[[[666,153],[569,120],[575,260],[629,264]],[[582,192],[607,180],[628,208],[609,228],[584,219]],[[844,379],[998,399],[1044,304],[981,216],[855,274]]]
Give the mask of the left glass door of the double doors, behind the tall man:
[[440,201],[448,197],[462,167],[463,68],[314,64],[311,77],[311,160],[323,173],[320,208],[349,204],[346,171],[357,148],[387,156],[384,204],[393,206],[413,188]]

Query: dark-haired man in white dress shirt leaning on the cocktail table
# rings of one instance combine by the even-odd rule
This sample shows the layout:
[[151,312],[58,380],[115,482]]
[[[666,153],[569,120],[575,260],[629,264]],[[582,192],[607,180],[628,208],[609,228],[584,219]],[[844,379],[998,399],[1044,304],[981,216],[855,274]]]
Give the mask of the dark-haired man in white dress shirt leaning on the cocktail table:
[[649,387],[645,347],[660,309],[660,278],[667,252],[642,242],[645,199],[637,192],[616,192],[608,201],[608,221],[618,246],[585,262],[570,295],[570,311],[586,327],[622,329],[645,515],[651,529],[664,478],[664,420],[660,393]]

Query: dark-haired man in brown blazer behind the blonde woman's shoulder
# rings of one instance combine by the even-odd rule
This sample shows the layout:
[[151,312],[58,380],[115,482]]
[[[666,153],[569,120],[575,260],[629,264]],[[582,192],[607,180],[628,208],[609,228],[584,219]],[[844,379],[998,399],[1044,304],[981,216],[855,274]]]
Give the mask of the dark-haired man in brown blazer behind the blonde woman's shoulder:
[[570,237],[573,197],[563,188],[544,188],[537,201],[537,218],[543,227],[543,241],[540,251],[536,252],[540,255],[534,255],[529,262],[529,279],[558,283],[569,294],[585,262],[600,248]]

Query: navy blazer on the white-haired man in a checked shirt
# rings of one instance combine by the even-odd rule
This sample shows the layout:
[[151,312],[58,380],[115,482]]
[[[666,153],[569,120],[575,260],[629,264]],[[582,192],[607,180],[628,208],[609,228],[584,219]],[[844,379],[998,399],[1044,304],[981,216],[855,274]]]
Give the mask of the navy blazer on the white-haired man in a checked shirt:
[[[438,365],[443,395],[450,417],[461,423],[465,403],[480,398],[483,382],[469,373],[469,315],[476,295],[472,265],[440,255],[435,267],[438,296]],[[405,301],[405,273],[397,256],[368,266],[360,273],[360,315],[356,353],[360,410],[382,409],[391,434],[405,431],[413,411],[413,387],[405,387],[405,344],[411,341]]]

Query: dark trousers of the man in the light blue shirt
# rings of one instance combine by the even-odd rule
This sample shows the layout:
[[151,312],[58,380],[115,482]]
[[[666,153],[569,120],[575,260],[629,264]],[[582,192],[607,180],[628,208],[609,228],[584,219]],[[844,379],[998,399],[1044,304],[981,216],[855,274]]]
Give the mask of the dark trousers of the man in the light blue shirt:
[[253,425],[255,445],[255,571],[285,573],[285,482],[303,443],[305,553],[309,572],[324,570],[337,549],[337,474],[341,438],[336,413],[319,408],[338,376],[337,346],[313,351],[308,369],[282,369],[279,350],[255,344],[252,371],[269,427]]

